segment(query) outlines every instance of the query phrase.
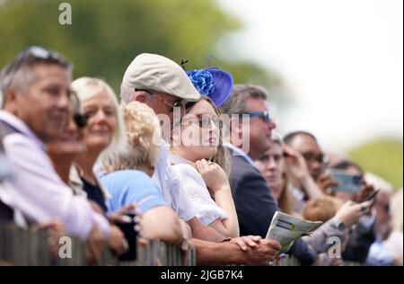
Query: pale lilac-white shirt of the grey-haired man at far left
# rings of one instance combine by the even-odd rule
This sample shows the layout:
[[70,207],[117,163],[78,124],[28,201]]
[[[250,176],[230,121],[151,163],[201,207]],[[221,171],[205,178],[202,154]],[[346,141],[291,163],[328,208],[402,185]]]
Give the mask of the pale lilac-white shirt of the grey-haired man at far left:
[[57,218],[66,226],[69,235],[86,238],[94,223],[108,235],[107,219],[92,210],[85,197],[75,196],[60,179],[40,138],[9,112],[0,111],[0,120],[23,133],[7,135],[3,141],[13,170],[13,179],[0,185],[3,202],[20,210],[31,222]]

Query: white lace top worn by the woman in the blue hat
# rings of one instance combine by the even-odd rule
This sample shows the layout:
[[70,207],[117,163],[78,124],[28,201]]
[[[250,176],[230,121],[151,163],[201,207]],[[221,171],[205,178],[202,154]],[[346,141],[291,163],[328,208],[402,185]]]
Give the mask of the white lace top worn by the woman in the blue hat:
[[210,197],[202,176],[194,167],[189,164],[173,164],[172,168],[182,182],[182,188],[187,192],[198,219],[204,225],[208,226],[216,219],[227,217],[224,209],[217,206]]

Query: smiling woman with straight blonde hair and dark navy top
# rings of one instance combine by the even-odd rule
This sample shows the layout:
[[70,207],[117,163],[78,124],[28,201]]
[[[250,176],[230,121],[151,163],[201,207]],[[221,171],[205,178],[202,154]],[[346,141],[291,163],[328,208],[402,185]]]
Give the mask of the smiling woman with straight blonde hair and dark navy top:
[[86,192],[87,198],[106,212],[105,200],[110,198],[93,167],[101,155],[107,155],[119,146],[123,137],[123,120],[119,114],[119,104],[110,85],[101,79],[81,77],[71,84],[79,97],[83,114],[87,118],[84,138],[85,150],[75,158],[75,167],[70,173],[70,183],[76,191]]

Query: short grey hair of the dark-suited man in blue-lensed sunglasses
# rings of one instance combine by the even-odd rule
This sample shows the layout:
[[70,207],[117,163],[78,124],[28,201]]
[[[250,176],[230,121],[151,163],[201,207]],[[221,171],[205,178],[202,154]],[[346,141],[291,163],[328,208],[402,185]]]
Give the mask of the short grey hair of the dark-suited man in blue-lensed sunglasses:
[[246,100],[249,98],[267,100],[267,90],[259,85],[234,84],[233,93],[220,111],[228,115],[247,113]]

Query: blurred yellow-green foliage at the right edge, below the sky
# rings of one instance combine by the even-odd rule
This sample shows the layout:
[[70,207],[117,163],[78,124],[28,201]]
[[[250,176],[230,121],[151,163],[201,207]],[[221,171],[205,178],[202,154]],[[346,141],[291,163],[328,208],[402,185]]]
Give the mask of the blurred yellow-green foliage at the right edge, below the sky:
[[402,147],[402,141],[395,138],[378,138],[352,149],[349,154],[366,172],[380,175],[397,189],[402,187]]

